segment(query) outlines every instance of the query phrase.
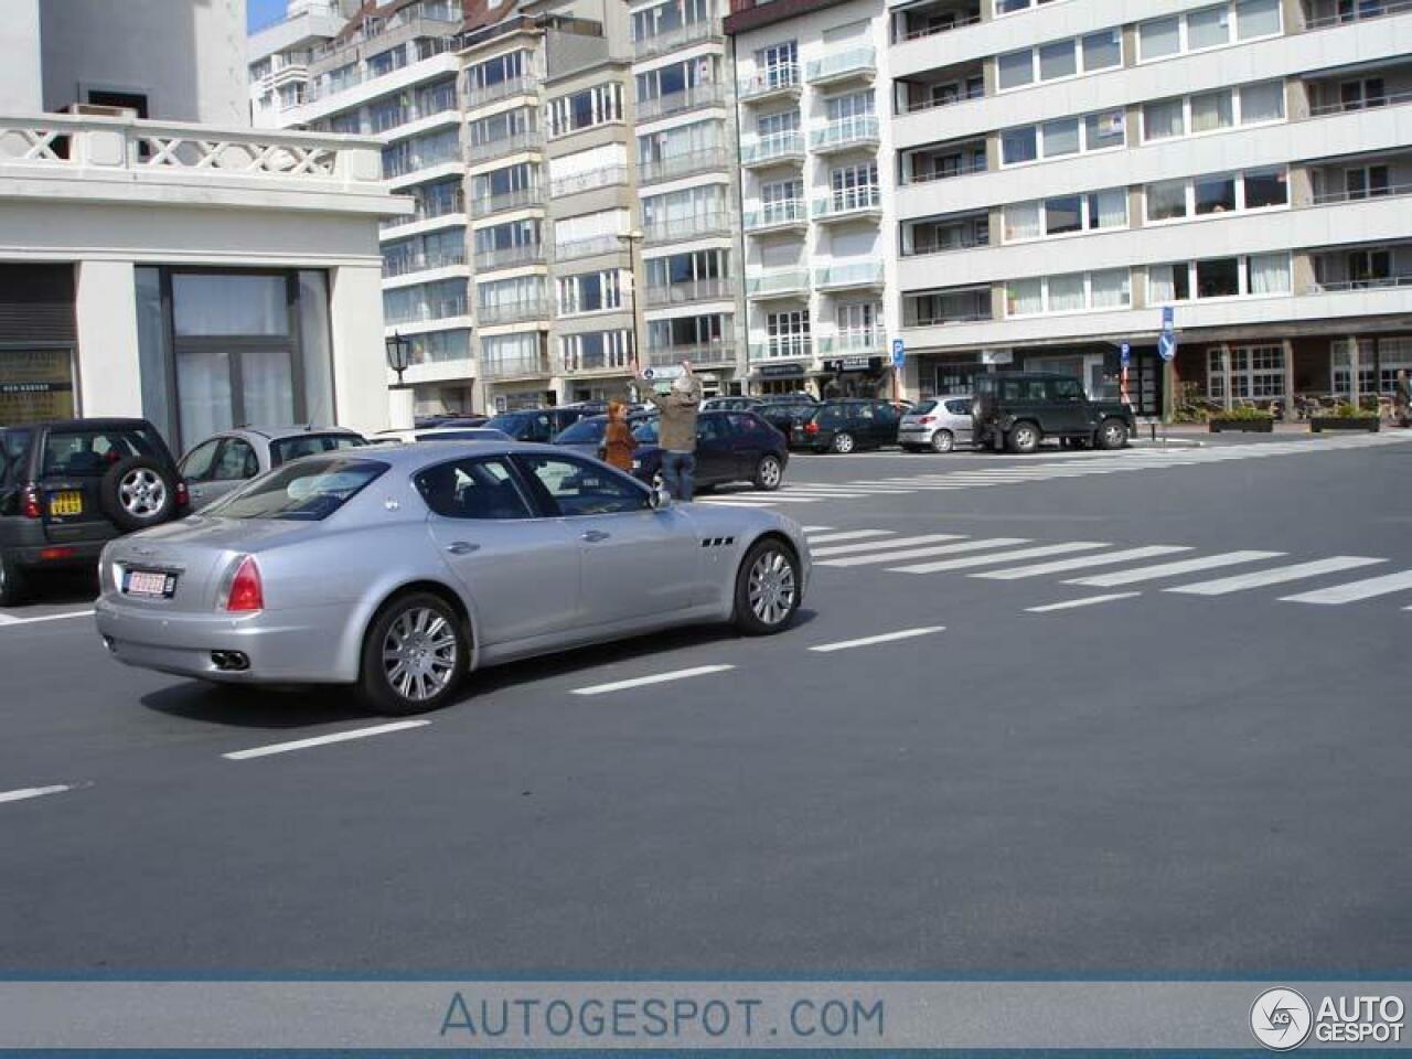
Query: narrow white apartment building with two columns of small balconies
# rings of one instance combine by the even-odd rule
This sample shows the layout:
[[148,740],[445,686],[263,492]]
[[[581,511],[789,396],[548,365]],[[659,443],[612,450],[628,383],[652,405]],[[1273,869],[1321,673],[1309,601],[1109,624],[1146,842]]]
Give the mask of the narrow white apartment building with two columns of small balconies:
[[733,0],[726,31],[751,391],[891,395],[890,13],[882,0]]

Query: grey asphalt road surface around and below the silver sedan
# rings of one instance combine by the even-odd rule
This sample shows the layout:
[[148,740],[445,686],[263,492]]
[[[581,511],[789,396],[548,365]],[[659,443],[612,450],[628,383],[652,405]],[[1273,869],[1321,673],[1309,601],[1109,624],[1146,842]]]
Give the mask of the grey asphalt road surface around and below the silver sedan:
[[[820,558],[974,546],[249,760],[381,722],[119,666],[82,583],[4,611],[0,971],[1406,971],[1412,586],[1282,597],[1412,569],[1412,443],[1276,442],[801,457],[772,503]],[[1066,583],[1233,552],[1282,555]]]

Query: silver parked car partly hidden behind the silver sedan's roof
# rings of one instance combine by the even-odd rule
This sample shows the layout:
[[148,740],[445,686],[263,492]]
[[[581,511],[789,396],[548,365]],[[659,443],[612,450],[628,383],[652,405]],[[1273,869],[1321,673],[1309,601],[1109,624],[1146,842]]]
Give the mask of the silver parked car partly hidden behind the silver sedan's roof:
[[178,470],[191,490],[192,510],[199,511],[289,460],[359,445],[367,439],[342,426],[241,426],[196,445],[181,457]]

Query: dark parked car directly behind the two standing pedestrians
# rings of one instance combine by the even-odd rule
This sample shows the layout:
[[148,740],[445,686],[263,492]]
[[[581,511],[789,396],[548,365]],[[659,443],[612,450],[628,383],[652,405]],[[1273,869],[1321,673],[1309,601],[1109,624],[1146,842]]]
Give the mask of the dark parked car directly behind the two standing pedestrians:
[[[638,448],[633,453],[633,474],[641,481],[657,481],[662,469],[662,449],[657,441],[658,419],[630,421]],[[698,489],[727,481],[750,481],[755,489],[774,491],[785,477],[789,445],[785,436],[754,412],[702,412],[696,417]]]

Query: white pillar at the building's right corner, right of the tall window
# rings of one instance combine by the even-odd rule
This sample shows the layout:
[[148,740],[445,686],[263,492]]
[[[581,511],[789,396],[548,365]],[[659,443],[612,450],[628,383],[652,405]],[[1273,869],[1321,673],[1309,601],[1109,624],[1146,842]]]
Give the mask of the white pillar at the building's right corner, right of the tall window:
[[385,429],[391,409],[380,265],[339,265],[332,270],[329,319],[339,426],[363,433]]

